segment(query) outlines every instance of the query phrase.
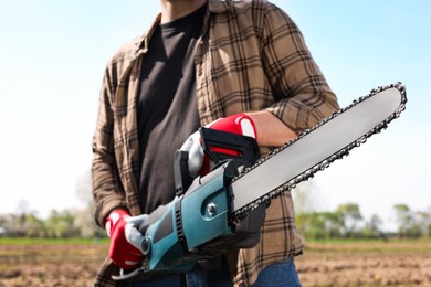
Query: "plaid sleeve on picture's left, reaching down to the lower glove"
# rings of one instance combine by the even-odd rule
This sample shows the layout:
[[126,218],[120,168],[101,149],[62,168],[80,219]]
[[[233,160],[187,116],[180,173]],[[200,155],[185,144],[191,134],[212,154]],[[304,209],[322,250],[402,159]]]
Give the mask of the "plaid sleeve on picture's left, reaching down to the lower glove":
[[98,103],[97,124],[93,137],[93,198],[96,223],[104,227],[105,219],[114,209],[126,209],[114,149],[113,83],[106,70]]

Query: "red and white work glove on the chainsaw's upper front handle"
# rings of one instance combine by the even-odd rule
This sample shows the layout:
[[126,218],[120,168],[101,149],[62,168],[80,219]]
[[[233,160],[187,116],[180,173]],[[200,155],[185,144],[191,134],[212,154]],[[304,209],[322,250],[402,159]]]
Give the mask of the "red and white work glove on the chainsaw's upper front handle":
[[[232,132],[236,135],[253,137],[257,139],[256,128],[246,114],[236,114],[229,117],[219,118],[206,128]],[[209,159],[203,152],[199,131],[193,132],[182,145],[181,150],[189,152],[188,167],[189,176],[204,176],[210,171]],[[227,151],[229,152],[229,151]]]

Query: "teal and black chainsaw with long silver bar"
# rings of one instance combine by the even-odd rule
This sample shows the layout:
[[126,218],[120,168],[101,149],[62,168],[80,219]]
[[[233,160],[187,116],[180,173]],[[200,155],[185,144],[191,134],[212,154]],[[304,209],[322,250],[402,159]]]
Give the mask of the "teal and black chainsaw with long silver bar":
[[[250,248],[260,240],[271,200],[348,156],[406,109],[401,83],[372,89],[295,139],[261,158],[254,138],[201,128],[211,171],[188,176],[188,152],[175,155],[176,196],[145,217],[130,217],[130,244],[143,265],[115,280],[190,270],[198,261],[229,248]],[[214,152],[214,147],[235,152]],[[135,222],[134,222],[135,221]]]

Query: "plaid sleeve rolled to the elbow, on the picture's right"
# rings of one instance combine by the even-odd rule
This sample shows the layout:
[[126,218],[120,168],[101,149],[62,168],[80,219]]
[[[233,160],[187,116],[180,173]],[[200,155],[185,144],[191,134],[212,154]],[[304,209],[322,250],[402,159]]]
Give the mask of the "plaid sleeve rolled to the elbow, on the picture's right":
[[262,44],[265,73],[276,100],[269,111],[301,132],[339,108],[301,31],[273,4],[265,13]]

